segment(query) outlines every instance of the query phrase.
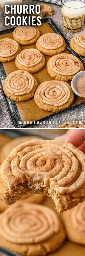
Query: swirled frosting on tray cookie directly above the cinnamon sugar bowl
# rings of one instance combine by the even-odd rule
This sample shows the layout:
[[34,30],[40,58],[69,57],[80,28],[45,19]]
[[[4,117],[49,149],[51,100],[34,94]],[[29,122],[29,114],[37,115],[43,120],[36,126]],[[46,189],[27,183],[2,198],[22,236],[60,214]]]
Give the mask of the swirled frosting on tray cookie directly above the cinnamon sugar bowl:
[[70,76],[79,72],[81,64],[76,56],[60,53],[52,57],[50,67],[57,74]]

